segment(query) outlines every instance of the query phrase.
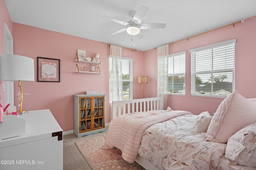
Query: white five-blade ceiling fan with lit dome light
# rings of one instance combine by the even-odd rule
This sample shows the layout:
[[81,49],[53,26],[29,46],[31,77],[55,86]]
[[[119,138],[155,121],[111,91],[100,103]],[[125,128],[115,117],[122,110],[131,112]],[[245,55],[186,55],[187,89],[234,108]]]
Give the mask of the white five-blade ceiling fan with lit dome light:
[[138,11],[130,11],[129,16],[132,18],[132,20],[128,22],[124,22],[121,20],[118,20],[116,18],[112,18],[109,16],[102,16],[103,18],[107,18],[108,20],[114,21],[116,23],[120,23],[122,25],[126,25],[126,28],[120,29],[118,31],[115,31],[111,33],[110,35],[115,35],[118,33],[121,33],[123,31],[126,31],[130,35],[137,35],[140,33],[141,29],[158,29],[158,28],[165,28],[166,23],[141,23],[142,19],[148,12],[148,7],[141,5]]

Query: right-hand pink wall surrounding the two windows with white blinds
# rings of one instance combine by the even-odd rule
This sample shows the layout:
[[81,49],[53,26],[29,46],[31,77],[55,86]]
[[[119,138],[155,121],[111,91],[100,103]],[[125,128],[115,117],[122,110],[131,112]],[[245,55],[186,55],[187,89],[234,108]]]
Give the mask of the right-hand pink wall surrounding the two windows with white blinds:
[[[236,68],[236,90],[246,98],[256,98],[254,86],[256,84],[256,16],[246,19],[244,23],[236,24],[235,27],[229,26],[217,31],[206,33],[189,41],[180,41],[169,45],[169,54],[186,51],[186,95],[168,95],[167,106],[174,110],[186,110],[194,114],[202,111],[209,111],[213,114],[224,98],[209,98],[191,96],[190,93],[190,53],[189,49],[201,47],[229,39],[236,39],[235,44],[235,68]],[[145,59],[148,63],[156,62],[156,51],[152,49],[145,52]],[[153,67],[154,66],[154,67]],[[156,64],[151,65],[147,72],[156,76]],[[157,88],[157,80],[150,82],[150,88]],[[152,93],[154,97],[155,93]]]

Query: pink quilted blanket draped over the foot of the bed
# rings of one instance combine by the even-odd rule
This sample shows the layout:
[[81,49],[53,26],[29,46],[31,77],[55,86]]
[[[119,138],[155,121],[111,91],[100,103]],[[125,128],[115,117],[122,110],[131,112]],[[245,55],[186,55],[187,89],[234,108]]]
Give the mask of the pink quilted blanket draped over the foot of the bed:
[[120,149],[122,158],[132,163],[138,154],[143,133],[148,127],[185,114],[192,113],[156,110],[120,115],[109,123],[107,142]]

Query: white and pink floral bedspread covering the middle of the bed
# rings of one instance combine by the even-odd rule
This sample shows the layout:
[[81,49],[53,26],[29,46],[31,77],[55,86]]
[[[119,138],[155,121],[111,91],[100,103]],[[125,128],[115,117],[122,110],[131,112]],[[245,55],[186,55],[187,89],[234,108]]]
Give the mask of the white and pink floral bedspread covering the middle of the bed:
[[226,144],[206,142],[206,133],[194,132],[196,115],[182,115],[150,126],[138,154],[162,170],[212,170]]

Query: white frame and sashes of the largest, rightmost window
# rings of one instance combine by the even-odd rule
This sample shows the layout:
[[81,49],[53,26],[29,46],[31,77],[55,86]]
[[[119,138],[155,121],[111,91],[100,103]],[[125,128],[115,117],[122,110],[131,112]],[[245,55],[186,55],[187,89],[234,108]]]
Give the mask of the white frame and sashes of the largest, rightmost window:
[[[232,92],[235,90],[235,43],[236,39],[230,39],[227,41],[222,41],[220,43],[214,43],[211,45],[206,45],[203,47],[198,47],[195,49],[190,49],[189,52],[191,54],[191,96],[205,96],[205,97],[218,97],[218,98],[226,98],[228,95],[213,95],[213,94],[196,94],[196,75],[197,74],[214,74],[218,72],[232,72]],[[197,51],[203,51],[207,49],[214,49],[218,48],[224,45],[230,45],[234,44],[234,67],[233,68],[227,68],[227,69],[218,69],[218,70],[206,70],[206,71],[198,71],[196,72],[196,56],[195,53]]]

